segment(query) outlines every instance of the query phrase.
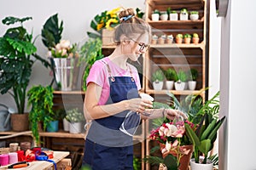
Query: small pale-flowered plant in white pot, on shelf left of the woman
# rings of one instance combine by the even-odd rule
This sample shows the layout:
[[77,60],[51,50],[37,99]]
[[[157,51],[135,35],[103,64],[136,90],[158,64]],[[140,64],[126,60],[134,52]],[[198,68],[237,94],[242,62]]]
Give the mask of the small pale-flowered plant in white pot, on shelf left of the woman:
[[82,122],[85,121],[84,114],[78,108],[68,110],[66,119],[69,124],[69,133],[81,133]]

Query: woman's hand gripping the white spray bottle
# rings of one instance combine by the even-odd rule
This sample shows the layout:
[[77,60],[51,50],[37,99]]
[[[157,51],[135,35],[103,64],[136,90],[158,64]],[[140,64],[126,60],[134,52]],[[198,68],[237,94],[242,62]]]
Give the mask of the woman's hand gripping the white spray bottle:
[[135,99],[129,99],[127,110],[135,111],[137,113],[142,113],[145,111],[146,108],[152,108],[153,102],[148,99],[141,99],[141,98],[135,98]]

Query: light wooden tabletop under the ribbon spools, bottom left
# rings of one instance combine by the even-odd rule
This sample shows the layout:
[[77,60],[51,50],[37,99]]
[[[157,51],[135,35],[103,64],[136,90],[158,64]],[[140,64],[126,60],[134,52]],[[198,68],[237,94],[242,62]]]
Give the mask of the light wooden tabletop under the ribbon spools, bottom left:
[[[63,158],[69,155],[69,151],[54,151],[54,158],[51,159],[58,163]],[[53,167],[53,163],[49,161],[32,161],[29,162],[28,167],[16,168],[17,170],[48,170],[50,167]],[[0,167],[0,169],[8,169],[7,167]]]

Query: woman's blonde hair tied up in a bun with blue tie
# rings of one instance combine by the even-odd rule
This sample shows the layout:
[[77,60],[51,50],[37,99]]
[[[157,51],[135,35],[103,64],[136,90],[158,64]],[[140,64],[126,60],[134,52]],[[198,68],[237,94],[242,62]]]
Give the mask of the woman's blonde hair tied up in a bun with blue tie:
[[120,37],[131,37],[132,34],[148,34],[151,36],[151,27],[145,20],[138,18],[132,8],[127,8],[119,13],[120,24],[115,28],[113,40],[118,45]]

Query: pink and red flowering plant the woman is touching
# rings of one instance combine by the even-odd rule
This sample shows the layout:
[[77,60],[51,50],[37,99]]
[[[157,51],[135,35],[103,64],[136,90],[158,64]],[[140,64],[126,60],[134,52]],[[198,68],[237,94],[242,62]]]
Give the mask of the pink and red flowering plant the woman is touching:
[[[195,125],[192,122],[178,118],[171,122],[163,122],[160,127],[153,129],[149,136],[160,144],[160,151],[164,159],[168,158],[169,155],[176,157],[176,168],[180,165],[182,157],[191,154],[193,150],[186,136],[185,124],[195,130]],[[166,164],[166,167],[168,169],[175,168],[169,167],[168,164]]]

